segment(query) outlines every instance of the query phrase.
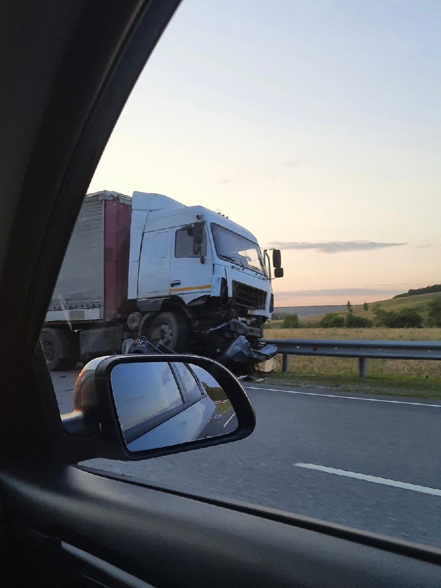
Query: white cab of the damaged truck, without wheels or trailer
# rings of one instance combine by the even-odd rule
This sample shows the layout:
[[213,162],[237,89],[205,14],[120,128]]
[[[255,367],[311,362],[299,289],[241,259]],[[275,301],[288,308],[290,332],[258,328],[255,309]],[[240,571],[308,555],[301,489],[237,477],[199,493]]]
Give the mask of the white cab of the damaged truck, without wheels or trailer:
[[[195,243],[193,227],[201,227]],[[242,318],[270,319],[272,288],[255,236],[203,206],[133,192],[128,298],[173,296],[185,306],[208,299],[242,307]]]

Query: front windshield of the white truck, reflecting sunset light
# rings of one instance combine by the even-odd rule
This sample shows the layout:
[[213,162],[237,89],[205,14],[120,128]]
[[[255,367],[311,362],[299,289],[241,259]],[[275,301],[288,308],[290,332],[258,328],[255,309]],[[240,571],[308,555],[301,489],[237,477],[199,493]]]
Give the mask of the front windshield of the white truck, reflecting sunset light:
[[215,223],[211,223],[211,231],[220,259],[266,274],[262,253],[257,243]]

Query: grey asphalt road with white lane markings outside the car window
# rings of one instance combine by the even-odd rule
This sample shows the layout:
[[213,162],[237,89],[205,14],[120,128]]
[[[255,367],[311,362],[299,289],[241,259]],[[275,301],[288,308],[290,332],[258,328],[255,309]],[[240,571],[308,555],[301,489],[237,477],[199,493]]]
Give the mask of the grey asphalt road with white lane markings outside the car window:
[[[75,374],[52,376],[68,412]],[[441,546],[441,401],[274,388],[248,388],[257,425],[247,439],[85,465]]]

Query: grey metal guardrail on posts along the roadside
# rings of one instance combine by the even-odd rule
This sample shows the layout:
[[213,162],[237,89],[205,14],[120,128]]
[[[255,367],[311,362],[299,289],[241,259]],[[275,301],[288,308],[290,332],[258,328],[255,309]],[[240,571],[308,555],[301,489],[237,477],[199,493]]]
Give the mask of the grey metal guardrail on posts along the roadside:
[[368,373],[368,359],[441,360],[440,341],[376,341],[332,339],[265,339],[282,355],[282,372],[289,371],[290,355],[358,358],[358,373]]

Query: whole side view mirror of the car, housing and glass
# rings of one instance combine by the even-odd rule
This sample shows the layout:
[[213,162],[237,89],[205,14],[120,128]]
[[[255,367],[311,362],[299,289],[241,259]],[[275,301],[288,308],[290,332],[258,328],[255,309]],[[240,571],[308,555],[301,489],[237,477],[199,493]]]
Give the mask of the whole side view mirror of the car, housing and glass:
[[93,438],[119,460],[243,439],[255,427],[249,397],[218,362],[192,355],[94,359],[74,389],[66,432]]

